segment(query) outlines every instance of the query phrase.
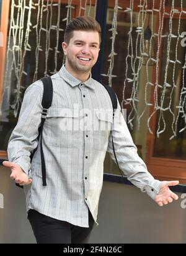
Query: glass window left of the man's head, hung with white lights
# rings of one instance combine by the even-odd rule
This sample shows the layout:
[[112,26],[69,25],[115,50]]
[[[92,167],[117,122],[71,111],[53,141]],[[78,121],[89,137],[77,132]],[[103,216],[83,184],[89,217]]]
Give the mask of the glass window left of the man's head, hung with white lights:
[[[1,8],[1,2],[0,0],[0,8]],[[73,7],[72,9],[68,9],[68,2],[66,0],[61,0],[60,5],[60,13],[58,12],[58,1],[48,1],[44,0],[45,6],[43,6],[43,12],[42,10],[42,1],[38,0],[32,0],[32,13],[30,18],[30,33],[29,33],[29,46],[27,47],[32,49],[32,51],[27,50],[25,53],[25,47],[24,42],[26,39],[27,34],[27,26],[28,26],[28,17],[29,17],[29,9],[24,9],[24,4],[26,6],[29,6],[30,0],[20,1],[20,0],[14,0],[14,3],[17,7],[14,8],[14,24],[17,25],[17,21],[19,21],[18,24],[20,24],[20,21],[22,21],[22,16],[24,15],[23,24],[20,25],[20,29],[15,30],[13,29],[11,32],[10,41],[7,39],[7,45],[9,45],[9,48],[7,47],[7,50],[9,50],[7,55],[7,63],[6,63],[6,71],[5,71],[5,78],[4,78],[4,89],[2,94],[2,104],[0,108],[0,150],[6,150],[7,149],[7,143],[9,140],[9,137],[12,133],[12,130],[14,129],[18,116],[20,111],[20,106],[17,111],[17,117],[14,116],[14,109],[12,106],[15,105],[15,99],[17,99],[17,95],[15,93],[15,90],[17,89],[17,77],[20,78],[19,72],[20,72],[20,66],[18,63],[20,62],[20,58],[25,54],[24,57],[24,74],[20,78],[20,104],[22,101],[22,98],[24,96],[25,89],[33,83],[33,81],[36,81],[40,78],[42,78],[45,74],[47,75],[53,75],[53,73],[56,73],[56,71],[60,70],[61,65],[63,64],[63,50],[61,47],[61,42],[63,42],[63,35],[64,35],[64,29],[66,27],[67,22],[67,16],[74,17],[76,8],[79,6],[78,1],[72,1]],[[40,2],[40,6],[38,6],[38,2]],[[20,5],[21,3],[21,9]],[[82,6],[84,4],[91,4],[89,6],[86,6],[86,15],[95,16],[95,1],[89,1],[89,2],[82,2]],[[47,4],[48,11],[46,9]],[[19,7],[19,11],[18,11]],[[1,10],[1,9],[0,9]],[[23,11],[24,10],[24,11]],[[40,11],[38,11],[40,10]],[[82,11],[82,10],[81,10]],[[1,11],[0,11],[1,15]],[[11,4],[10,4],[10,12],[9,12],[9,29],[11,23]],[[58,24],[58,18],[60,21],[59,27],[60,32],[57,36],[56,31],[56,24]],[[1,19],[0,19],[1,21]],[[42,21],[42,22],[41,22]],[[48,22],[47,22],[48,21]],[[40,25],[42,24],[43,30],[40,31]],[[38,25],[38,30],[36,32],[36,25]],[[48,25],[48,37],[45,29],[47,29]],[[23,35],[23,37],[22,37]],[[35,68],[36,68],[36,49],[38,47],[38,37],[39,39],[39,45],[40,50],[38,54],[38,70],[37,70],[37,77],[35,76]],[[12,51],[13,45],[15,47],[21,45],[21,50],[14,50]],[[46,60],[46,52],[45,49],[48,48],[48,45],[50,45],[50,50],[47,52],[48,58]],[[56,49],[56,45],[58,45],[58,48]],[[19,49],[19,48],[17,48]],[[55,56],[55,50],[58,50],[58,54]],[[18,73],[18,74],[17,74]],[[19,96],[18,96],[19,97]],[[19,105],[20,105],[19,104]]]

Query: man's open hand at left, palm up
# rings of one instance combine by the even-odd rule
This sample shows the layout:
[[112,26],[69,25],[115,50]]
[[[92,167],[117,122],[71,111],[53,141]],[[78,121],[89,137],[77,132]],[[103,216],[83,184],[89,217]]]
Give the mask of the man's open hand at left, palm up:
[[22,170],[22,168],[20,168],[20,165],[18,165],[17,163],[3,161],[2,165],[4,165],[4,167],[11,168],[12,173],[10,178],[11,180],[15,180],[15,183],[19,183],[20,186],[29,185],[30,183],[32,183],[32,179],[29,179],[27,173],[25,173],[24,170]]

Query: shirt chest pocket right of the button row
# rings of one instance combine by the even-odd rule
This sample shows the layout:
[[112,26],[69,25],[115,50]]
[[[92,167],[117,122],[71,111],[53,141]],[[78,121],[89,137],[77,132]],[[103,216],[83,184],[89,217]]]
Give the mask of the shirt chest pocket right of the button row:
[[95,111],[95,129],[93,135],[95,150],[107,150],[112,123],[113,111]]

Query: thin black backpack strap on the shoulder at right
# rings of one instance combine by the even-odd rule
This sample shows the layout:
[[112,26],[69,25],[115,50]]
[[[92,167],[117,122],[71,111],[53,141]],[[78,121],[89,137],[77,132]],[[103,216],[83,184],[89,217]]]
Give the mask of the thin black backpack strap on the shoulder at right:
[[[108,91],[108,94],[110,96],[110,99],[112,101],[112,107],[113,107],[113,118],[114,118],[114,113],[115,113],[115,110],[117,109],[117,106],[118,106],[118,102],[117,102],[117,96],[115,94],[115,91],[108,85],[104,85],[103,83],[101,83],[105,89]],[[111,135],[112,135],[112,131],[111,131]],[[112,135],[112,148],[113,148],[113,154],[114,154],[114,157],[115,157],[115,160],[117,162],[117,166],[118,166],[118,169],[120,170],[120,167],[118,165],[118,160],[117,160],[117,156],[115,154],[115,149],[114,149],[114,144],[113,144],[113,135]],[[122,175],[123,177],[123,173],[122,171],[120,170],[120,174]]]

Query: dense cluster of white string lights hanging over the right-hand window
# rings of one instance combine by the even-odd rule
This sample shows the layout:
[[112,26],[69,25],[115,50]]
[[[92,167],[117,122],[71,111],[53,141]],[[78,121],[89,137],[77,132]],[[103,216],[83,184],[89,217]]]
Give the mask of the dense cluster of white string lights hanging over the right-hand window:
[[[148,117],[148,129],[153,134],[151,127],[151,120],[154,115],[157,117],[157,129],[156,135],[166,130],[166,114],[169,112],[171,117],[171,130],[172,135],[170,140],[177,136],[177,132],[183,132],[186,129],[186,87],[185,87],[185,71],[186,71],[186,53],[184,63],[179,58],[180,40],[183,39],[181,31],[182,17],[185,16],[183,9],[183,0],[180,0],[180,8],[175,7],[174,0],[170,7],[170,12],[166,12],[166,0],[159,1],[159,7],[157,8],[157,1],[140,0],[138,5],[138,11],[134,11],[135,0],[130,0],[130,6],[127,7],[124,12],[130,14],[130,31],[128,32],[128,49],[126,56],[126,72],[125,81],[123,86],[123,101],[122,107],[126,105],[130,106],[130,112],[128,114],[128,124],[133,129],[134,122],[137,122],[138,128],[140,126],[141,117],[144,116],[146,111],[149,112],[149,107],[153,109]],[[155,7],[156,6],[156,7]],[[133,14],[138,12],[138,27],[133,27]],[[174,16],[179,15],[177,32],[175,33]],[[146,27],[147,17],[151,17],[148,27]],[[169,26],[168,32],[164,34],[164,21],[168,19]],[[154,29],[154,20],[157,20],[158,28]],[[135,29],[136,39],[133,40],[132,32]],[[173,32],[174,31],[174,32]],[[156,41],[155,55],[151,54],[153,49],[153,41]],[[176,42],[175,42],[176,41]],[[148,43],[148,52],[146,52],[146,43]],[[163,43],[166,43],[166,55],[164,56],[164,76],[161,78],[160,65],[162,62],[162,47]],[[134,50],[135,45],[135,50]],[[175,57],[172,54],[175,53]],[[166,60],[165,60],[166,58]],[[144,64],[145,63],[145,64]],[[153,63],[155,75],[152,75],[152,67],[149,65]],[[142,69],[146,66],[146,86],[144,89],[144,97],[140,98],[140,101],[144,99],[144,109],[139,112],[139,79]],[[132,70],[132,72],[131,72]],[[171,70],[171,72],[170,72]],[[182,70],[182,79],[180,83],[177,81],[177,70]],[[172,79],[170,79],[170,73]],[[144,70],[143,70],[144,74]],[[154,78],[155,77],[155,78]],[[181,84],[181,85],[180,85]],[[153,90],[153,101],[150,102],[149,92]],[[131,92],[130,97],[126,97],[128,91]],[[175,106],[175,95],[179,91],[179,103]],[[168,99],[168,100],[167,100]],[[168,103],[167,103],[168,102]],[[185,126],[182,129],[177,130],[178,121],[180,117],[183,119]]]

